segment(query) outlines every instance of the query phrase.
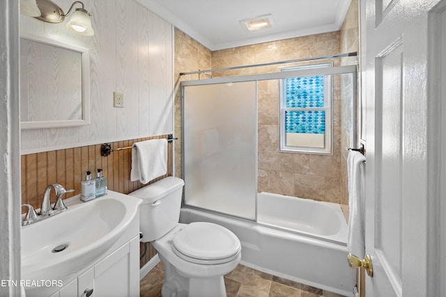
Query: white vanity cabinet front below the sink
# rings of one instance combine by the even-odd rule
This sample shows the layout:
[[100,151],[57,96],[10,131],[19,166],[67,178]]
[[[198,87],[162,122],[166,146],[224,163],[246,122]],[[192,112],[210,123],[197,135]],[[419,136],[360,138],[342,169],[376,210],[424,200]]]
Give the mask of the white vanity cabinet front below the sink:
[[[93,290],[93,291],[91,291]],[[139,235],[50,297],[139,296]]]

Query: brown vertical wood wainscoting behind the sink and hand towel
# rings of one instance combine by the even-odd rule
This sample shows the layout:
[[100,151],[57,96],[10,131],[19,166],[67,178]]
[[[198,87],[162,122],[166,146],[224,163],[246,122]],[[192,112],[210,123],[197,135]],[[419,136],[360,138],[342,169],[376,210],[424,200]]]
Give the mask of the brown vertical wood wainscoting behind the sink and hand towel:
[[[111,143],[112,149],[129,147],[138,141],[149,139],[167,138],[168,135],[132,139]],[[128,194],[145,186],[141,182],[130,182],[130,169],[132,168],[132,150],[121,150],[112,152],[109,156],[101,156],[101,145],[88,145],[84,147],[73,147],[65,150],[54,150],[36,154],[22,155],[22,204],[31,204],[40,208],[43,193],[49,184],[61,184],[67,190],[74,188],[74,193],[67,193],[66,197],[81,193],[81,182],[85,179],[85,172],[90,170],[93,175],[98,168],[102,168],[102,174],[107,179],[107,188],[123,194]],[[157,177],[155,182],[164,177],[172,175],[173,145],[167,145],[167,175]],[[52,191],[51,202],[56,202],[54,191]],[[22,212],[26,212],[22,207]],[[141,243],[141,255],[144,253],[144,245]],[[141,258],[141,266],[144,266],[156,251],[147,244],[144,257]]]

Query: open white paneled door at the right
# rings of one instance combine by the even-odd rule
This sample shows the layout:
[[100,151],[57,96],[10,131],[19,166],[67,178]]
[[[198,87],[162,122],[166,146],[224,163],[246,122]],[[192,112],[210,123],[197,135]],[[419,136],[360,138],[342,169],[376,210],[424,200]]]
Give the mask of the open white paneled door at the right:
[[428,17],[438,2],[360,0],[366,253],[374,268],[366,296],[438,296],[429,294],[436,255],[427,153]]

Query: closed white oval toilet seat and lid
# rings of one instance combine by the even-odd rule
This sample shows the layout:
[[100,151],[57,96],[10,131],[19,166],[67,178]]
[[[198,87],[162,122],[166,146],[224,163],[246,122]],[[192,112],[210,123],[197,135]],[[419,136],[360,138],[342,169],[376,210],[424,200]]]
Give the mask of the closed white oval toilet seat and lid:
[[240,253],[240,241],[233,232],[214,223],[194,222],[185,226],[171,241],[174,253],[187,262],[222,264]]

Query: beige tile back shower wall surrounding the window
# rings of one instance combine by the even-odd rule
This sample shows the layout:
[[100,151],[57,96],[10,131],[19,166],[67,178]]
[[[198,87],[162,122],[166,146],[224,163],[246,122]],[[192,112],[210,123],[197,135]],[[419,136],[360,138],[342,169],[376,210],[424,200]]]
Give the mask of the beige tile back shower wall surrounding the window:
[[[213,68],[338,54],[340,33],[266,42],[213,52]],[[319,61],[318,63],[326,63]],[[283,66],[304,65],[293,63]],[[334,66],[339,61],[334,61]],[[215,76],[279,72],[279,66],[231,70]],[[259,191],[341,203],[340,79],[334,77],[333,156],[279,152],[279,81],[259,81]]]

